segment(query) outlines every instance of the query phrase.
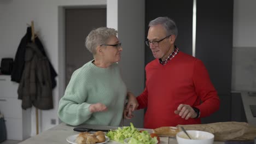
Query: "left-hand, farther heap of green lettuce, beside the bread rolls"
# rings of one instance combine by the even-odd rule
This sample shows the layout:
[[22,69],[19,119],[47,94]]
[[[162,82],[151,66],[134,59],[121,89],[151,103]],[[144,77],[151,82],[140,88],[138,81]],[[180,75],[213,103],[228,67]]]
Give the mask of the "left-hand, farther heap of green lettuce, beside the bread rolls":
[[139,134],[139,131],[130,123],[130,127],[120,127],[115,130],[110,130],[106,134],[110,140],[118,141],[123,143],[126,138],[132,137],[133,135]]

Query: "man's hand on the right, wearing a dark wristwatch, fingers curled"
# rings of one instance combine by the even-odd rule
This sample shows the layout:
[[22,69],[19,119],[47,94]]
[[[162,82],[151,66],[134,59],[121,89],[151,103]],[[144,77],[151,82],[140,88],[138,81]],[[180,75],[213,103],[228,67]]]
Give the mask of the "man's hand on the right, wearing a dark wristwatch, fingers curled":
[[189,118],[195,118],[197,116],[197,113],[193,110],[193,108],[190,105],[185,104],[180,104],[174,113],[182,118],[185,118],[186,120]]

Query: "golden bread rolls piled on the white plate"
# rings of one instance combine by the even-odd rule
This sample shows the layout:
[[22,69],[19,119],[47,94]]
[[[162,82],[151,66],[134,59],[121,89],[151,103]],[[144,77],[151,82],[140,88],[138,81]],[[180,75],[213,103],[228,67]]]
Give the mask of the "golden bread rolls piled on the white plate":
[[106,141],[105,133],[103,131],[97,131],[94,134],[83,132],[77,136],[75,142],[78,144],[94,144]]

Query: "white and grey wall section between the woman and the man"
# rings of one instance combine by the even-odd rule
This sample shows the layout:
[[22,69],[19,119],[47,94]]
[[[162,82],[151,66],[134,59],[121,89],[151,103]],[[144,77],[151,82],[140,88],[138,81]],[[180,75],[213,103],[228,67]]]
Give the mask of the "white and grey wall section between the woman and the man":
[[[123,52],[119,65],[127,88],[136,96],[144,90],[144,0],[107,0],[107,26],[118,29]],[[132,10],[131,10],[132,9]],[[115,18],[117,17],[117,19]],[[135,111],[131,120],[135,127],[143,127],[143,110]]]

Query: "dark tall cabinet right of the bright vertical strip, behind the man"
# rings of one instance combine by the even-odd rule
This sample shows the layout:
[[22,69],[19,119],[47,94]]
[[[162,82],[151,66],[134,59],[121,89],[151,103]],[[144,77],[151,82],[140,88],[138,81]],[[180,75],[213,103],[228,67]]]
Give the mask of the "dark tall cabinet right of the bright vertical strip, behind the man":
[[234,2],[197,0],[196,3],[196,57],[206,65],[220,98],[219,111],[202,121],[230,121]]

